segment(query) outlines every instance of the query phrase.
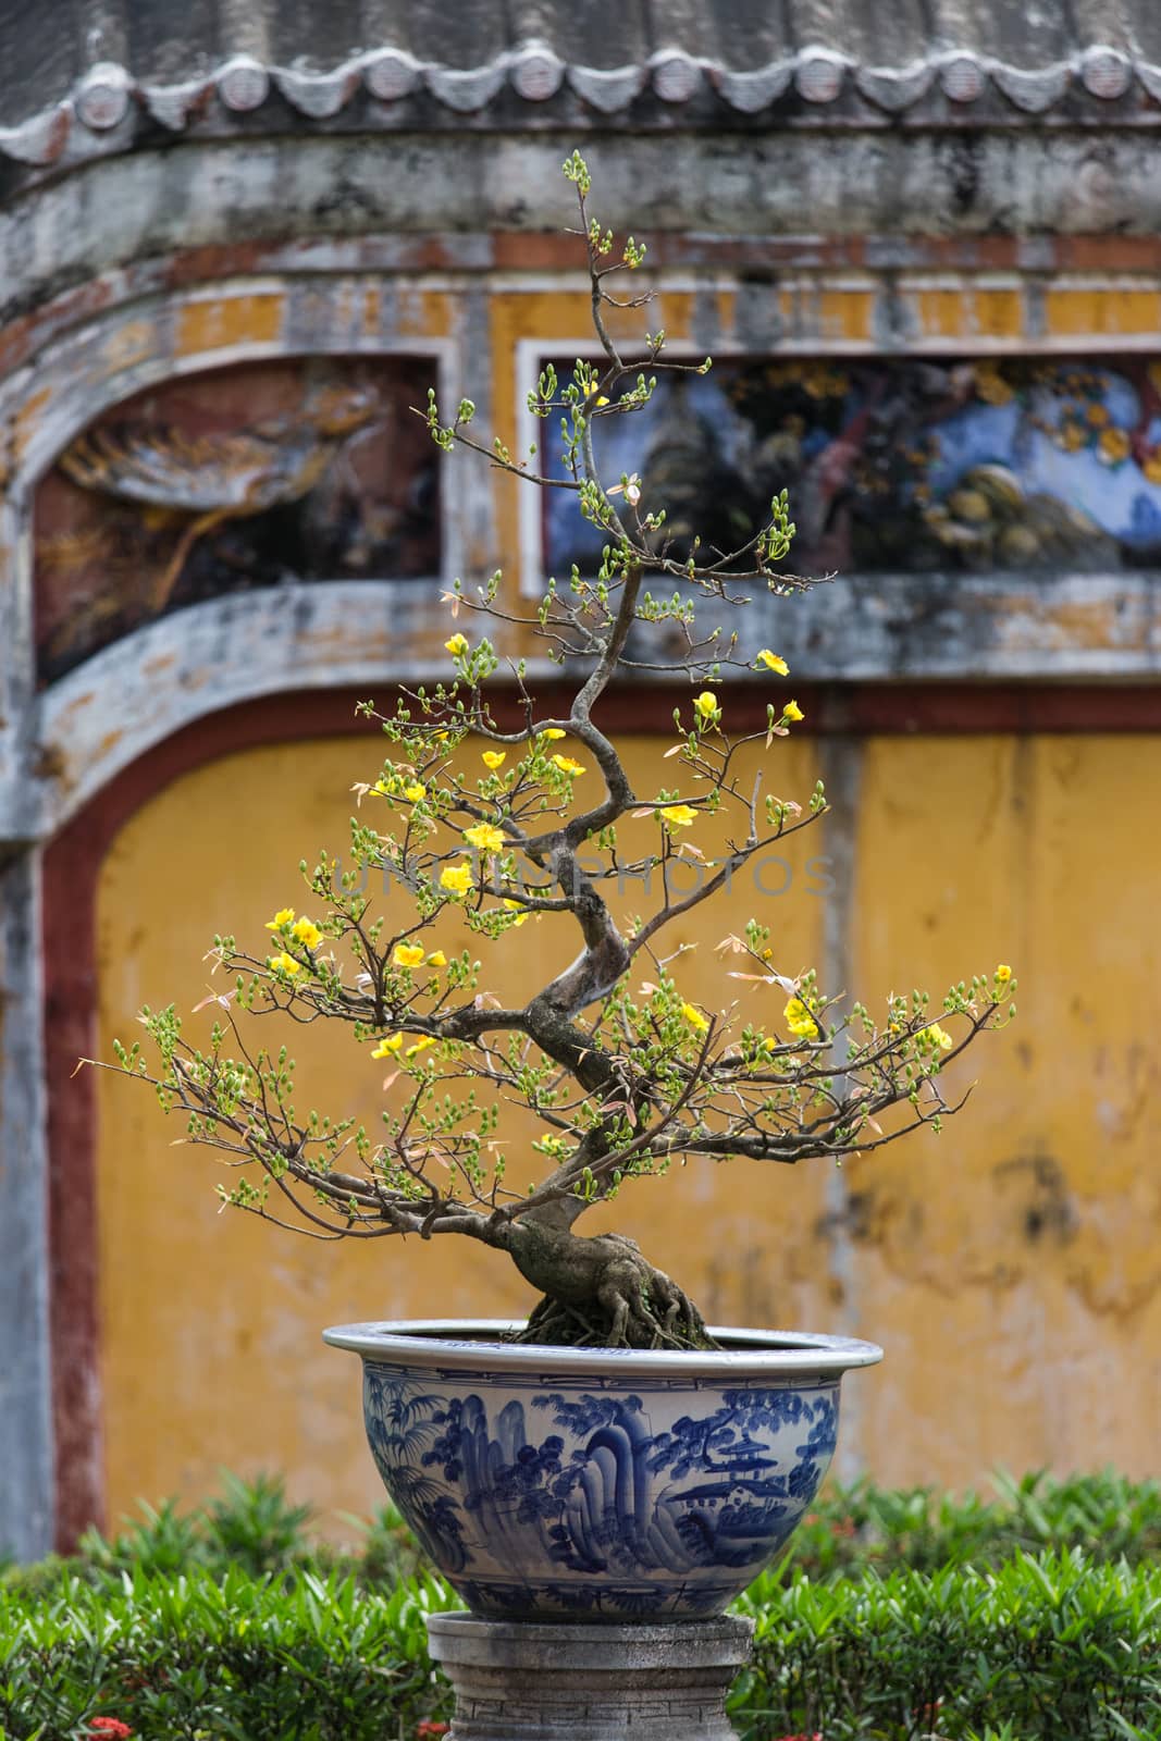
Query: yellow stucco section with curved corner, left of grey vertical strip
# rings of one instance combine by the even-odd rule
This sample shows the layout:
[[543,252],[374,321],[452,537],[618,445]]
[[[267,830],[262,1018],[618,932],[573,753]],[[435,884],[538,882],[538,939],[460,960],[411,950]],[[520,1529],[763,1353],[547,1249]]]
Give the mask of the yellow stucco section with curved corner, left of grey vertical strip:
[[[674,764],[660,761],[663,749],[665,740],[630,745],[639,790],[672,780]],[[818,773],[813,747],[780,745],[776,754],[782,787],[806,797]],[[99,891],[101,1055],[111,1055],[113,1036],[132,1036],[141,1003],[174,999],[188,1012],[211,991],[202,958],[216,931],[233,930],[261,947],[272,912],[285,904],[310,911],[298,864],[303,857],[313,864],[324,844],[341,855],[350,785],[374,778],[379,761],[371,731],[254,750],[188,775],[129,822]],[[818,877],[806,862],[825,851],[825,825],[787,844],[782,857],[795,886],[764,902],[790,971],[820,947],[823,902],[808,893]],[[771,865],[766,881],[780,888],[787,870]],[[700,940],[681,970],[689,996],[715,1005],[740,991],[724,980],[722,959],[710,947],[740,923],[740,904],[726,911],[719,902],[703,924],[674,924],[667,947]],[[446,949],[449,935],[449,924],[440,924]],[[540,971],[567,965],[574,952],[567,930],[529,923],[510,933],[482,984],[519,996],[531,958]],[[649,971],[642,968],[641,977]],[[190,1032],[209,1020],[211,1012],[193,1017]],[[270,1038],[270,1022],[256,1027]],[[319,1104],[374,1119],[386,1065],[359,1050],[350,1031],[294,1029],[289,1041],[303,1065],[299,1107]],[[538,1130],[527,1121],[522,1128],[526,1135]],[[219,1213],[214,1182],[225,1168],[209,1149],[172,1147],[181,1135],[181,1123],[164,1119],[148,1090],[101,1076],[110,1515],[138,1496],[193,1497],[214,1487],[221,1466],[280,1468],[298,1494],[320,1506],[367,1511],[381,1494],[357,1419],[357,1363],[322,1346],[322,1327],[423,1313],[522,1316],[533,1295],[503,1257],[466,1240],[325,1247],[233,1210]],[[520,1173],[519,1146],[520,1126],[513,1126],[510,1177]],[[837,1327],[839,1314],[827,1301],[825,1274],[813,1274],[818,1247],[809,1234],[823,1213],[823,1193],[820,1170],[703,1165],[627,1193],[614,1224],[675,1271],[717,1320],[827,1328]],[[768,1238],[783,1219],[808,1229],[802,1245]]]

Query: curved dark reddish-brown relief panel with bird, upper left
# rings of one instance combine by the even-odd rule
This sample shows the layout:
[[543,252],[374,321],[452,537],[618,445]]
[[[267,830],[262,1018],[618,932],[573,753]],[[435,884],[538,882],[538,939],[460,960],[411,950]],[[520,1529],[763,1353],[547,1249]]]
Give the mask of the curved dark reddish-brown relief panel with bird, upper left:
[[440,571],[432,357],[291,359],[115,406],[35,508],[42,682],[198,599]]

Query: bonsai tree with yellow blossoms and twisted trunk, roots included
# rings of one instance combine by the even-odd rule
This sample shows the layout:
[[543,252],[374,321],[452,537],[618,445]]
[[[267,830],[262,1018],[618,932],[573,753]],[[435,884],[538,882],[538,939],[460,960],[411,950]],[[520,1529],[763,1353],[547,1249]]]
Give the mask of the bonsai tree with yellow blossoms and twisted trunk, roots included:
[[[117,1067],[153,1083],[162,1107],[185,1116],[191,1144],[226,1158],[237,1179],[219,1193],[247,1213],[319,1238],[454,1236],[493,1247],[541,1295],[522,1332],[529,1341],[705,1348],[682,1288],[632,1240],[585,1236],[583,1217],[625,1180],[679,1161],[836,1163],[910,1130],[938,1130],[957,1109],[940,1092],[943,1065],[1015,1013],[1015,982],[999,966],[954,985],[940,1020],[919,992],[889,996],[876,1018],[829,996],[813,971],[778,971],[768,928],[750,918],[724,945],[722,978],[750,982],[742,1001],[726,984],[719,1008],[682,994],[667,928],[827,808],[822,783],[799,806],[742,773],[740,752],[759,742],[776,756],[802,710],[771,698],[766,728],[735,735],[721,679],[745,670],[773,686],[787,665],[769,648],[743,653],[721,627],[700,635],[695,606],[728,609],[754,587],[790,594],[806,581],[783,568],[794,536],[785,493],[740,548],[707,550],[695,536],[667,534],[648,479],[602,477],[604,420],[639,413],[656,371],[691,366],[663,355],[661,331],[639,346],[644,367],[627,360],[606,310],[648,296],[618,299],[609,280],[632,273],[646,251],[630,237],[614,254],[611,232],[590,218],[580,155],[564,174],[578,195],[601,345],[597,366],[578,360],[567,383],[547,367],[529,395],[536,418],[560,423],[564,475],[548,475],[534,447],[513,458],[500,439],[479,442],[470,400],[444,421],[430,393],[425,414],[447,453],[486,454],[527,487],[569,491],[604,538],[595,571],[550,580],[527,609],[501,573],[475,590],[454,583],[447,679],[404,689],[385,714],[362,709],[379,721],[388,759],[355,787],[352,869],[336,877],[327,853],[313,869],[303,862],[306,911],[277,912],[266,947],[214,940],[232,987],[211,999],[221,1008],[205,1045],[185,1036],[172,1006],[146,1008],[153,1050],[117,1045]],[[693,373],[708,367],[707,359]],[[658,580],[663,594],[648,590]],[[498,717],[500,655],[477,634],[489,622],[513,637],[531,632],[566,676],[580,672],[566,709],[547,716],[513,662],[515,712],[508,703]],[[689,684],[688,705],[674,712],[674,785],[651,794],[634,790],[601,726],[609,684],[641,672]],[[717,820],[698,846],[708,818]],[[707,850],[708,834],[722,830],[726,844]],[[642,834],[644,848],[625,846]],[[696,865],[684,895],[667,876],[675,860]],[[378,900],[367,891],[372,870],[386,872]],[[653,891],[651,911],[616,911],[613,891],[627,879]],[[479,959],[437,947],[451,912],[479,940]],[[576,956],[503,1006],[487,989],[487,963],[529,919],[571,933]],[[346,1022],[355,1046],[390,1064],[393,1092],[378,1125],[296,1111],[285,1048],[252,1038],[272,1012]],[[543,1172],[529,1187],[505,1177],[500,1132],[510,1106],[531,1107],[543,1125],[533,1142]]]

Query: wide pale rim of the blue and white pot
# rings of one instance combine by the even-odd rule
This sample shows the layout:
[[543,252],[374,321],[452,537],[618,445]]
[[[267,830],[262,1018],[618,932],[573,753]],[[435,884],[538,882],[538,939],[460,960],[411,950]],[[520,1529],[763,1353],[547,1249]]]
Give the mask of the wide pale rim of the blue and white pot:
[[710,1325],[717,1349],[651,1348],[550,1348],[503,1342],[519,1330],[515,1318],[392,1318],[381,1323],[336,1323],[322,1332],[331,1348],[345,1348],[364,1360],[399,1367],[440,1367],[477,1372],[590,1374],[628,1382],[639,1377],[729,1379],[729,1377],[830,1377],[882,1360],[876,1342],[808,1330],[748,1330]]

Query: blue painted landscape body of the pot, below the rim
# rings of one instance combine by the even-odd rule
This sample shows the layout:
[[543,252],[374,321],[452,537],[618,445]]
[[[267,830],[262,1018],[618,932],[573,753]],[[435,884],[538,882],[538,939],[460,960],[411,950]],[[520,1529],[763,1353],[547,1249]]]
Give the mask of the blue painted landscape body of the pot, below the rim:
[[364,1405],[388,1492],[475,1612],[672,1617],[721,1612],[787,1541],[839,1386],[628,1393],[367,1361]]

